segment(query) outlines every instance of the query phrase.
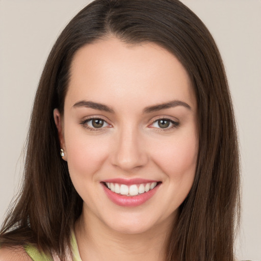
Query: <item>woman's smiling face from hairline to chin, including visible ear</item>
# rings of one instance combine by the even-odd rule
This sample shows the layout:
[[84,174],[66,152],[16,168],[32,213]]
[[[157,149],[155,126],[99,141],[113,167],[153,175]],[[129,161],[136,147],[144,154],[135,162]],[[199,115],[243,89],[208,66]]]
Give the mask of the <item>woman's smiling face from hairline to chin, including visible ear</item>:
[[195,176],[196,108],[186,70],[156,44],[77,51],[54,115],[86,220],[124,233],[173,222]]

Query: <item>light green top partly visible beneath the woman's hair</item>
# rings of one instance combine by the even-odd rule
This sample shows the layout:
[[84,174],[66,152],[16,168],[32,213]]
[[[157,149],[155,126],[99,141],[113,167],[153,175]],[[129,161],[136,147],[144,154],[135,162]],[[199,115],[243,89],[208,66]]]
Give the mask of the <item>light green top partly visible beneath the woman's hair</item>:
[[[24,246],[23,248],[33,261],[54,261],[54,258],[52,256],[40,252],[39,249],[35,246],[27,245]],[[71,233],[71,253],[72,253],[72,261],[82,261],[77,246],[75,234],[73,231]]]

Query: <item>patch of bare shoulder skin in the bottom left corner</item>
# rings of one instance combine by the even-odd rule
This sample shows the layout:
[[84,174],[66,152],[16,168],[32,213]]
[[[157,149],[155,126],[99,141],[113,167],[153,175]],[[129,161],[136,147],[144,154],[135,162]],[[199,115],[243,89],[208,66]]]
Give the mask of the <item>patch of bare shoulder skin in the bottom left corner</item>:
[[0,261],[32,261],[23,247],[0,248]]

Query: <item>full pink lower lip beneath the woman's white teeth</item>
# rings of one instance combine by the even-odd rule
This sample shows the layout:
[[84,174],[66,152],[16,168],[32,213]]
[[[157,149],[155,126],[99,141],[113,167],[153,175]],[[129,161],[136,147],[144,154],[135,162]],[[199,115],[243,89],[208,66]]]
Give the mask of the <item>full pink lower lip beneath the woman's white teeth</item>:
[[106,195],[111,199],[112,202],[119,206],[139,206],[149,200],[159,189],[160,184],[158,184],[154,189],[144,192],[137,196],[125,196],[117,194],[109,190],[105,184],[101,183]]

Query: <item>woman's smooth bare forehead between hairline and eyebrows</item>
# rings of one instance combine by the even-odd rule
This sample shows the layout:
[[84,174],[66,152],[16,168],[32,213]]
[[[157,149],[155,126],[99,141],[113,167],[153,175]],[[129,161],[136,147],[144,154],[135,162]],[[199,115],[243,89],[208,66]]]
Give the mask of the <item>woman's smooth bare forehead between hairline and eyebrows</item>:
[[66,95],[70,103],[109,98],[143,106],[171,99],[195,103],[188,73],[173,54],[155,43],[127,45],[117,38],[87,44],[76,52]]

